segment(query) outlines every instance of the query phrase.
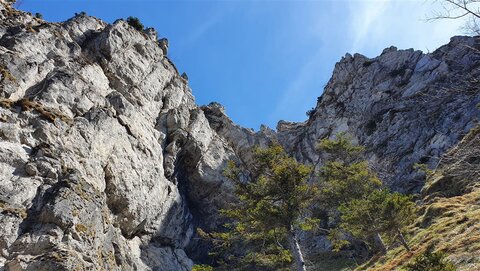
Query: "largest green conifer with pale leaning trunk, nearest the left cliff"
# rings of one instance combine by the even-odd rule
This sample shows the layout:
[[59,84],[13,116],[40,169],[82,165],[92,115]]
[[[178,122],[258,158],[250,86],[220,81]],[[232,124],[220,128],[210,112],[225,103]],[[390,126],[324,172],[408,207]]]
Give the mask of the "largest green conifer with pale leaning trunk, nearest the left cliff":
[[[312,168],[289,157],[280,145],[255,149],[256,167],[250,181],[233,162],[225,175],[236,185],[238,202],[222,210],[231,223],[227,231],[213,233],[224,265],[240,270],[305,270],[297,239],[298,230],[308,230],[318,221],[307,218],[316,189],[307,183]],[[239,248],[244,253],[236,253]]]

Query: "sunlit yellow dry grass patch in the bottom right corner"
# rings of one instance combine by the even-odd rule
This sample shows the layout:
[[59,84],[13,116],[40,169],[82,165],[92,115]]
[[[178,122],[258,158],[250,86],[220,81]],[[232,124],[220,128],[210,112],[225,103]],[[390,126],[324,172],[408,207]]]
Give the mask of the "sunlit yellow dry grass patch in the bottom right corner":
[[480,270],[480,189],[452,198],[435,198],[411,226],[411,252],[396,248],[358,270],[389,271],[422,254],[430,244],[443,251],[460,271]]

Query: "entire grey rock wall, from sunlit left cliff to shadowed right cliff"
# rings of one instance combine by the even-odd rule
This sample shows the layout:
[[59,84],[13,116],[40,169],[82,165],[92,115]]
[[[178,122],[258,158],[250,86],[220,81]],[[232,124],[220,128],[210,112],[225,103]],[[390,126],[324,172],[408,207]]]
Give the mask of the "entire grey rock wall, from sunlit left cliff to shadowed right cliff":
[[316,141],[347,131],[393,189],[419,191],[412,165],[434,166],[478,115],[476,38],[347,55],[308,121],[253,132],[198,107],[152,33],[85,15],[47,23],[0,0],[6,270],[189,270],[206,253],[194,229],[217,228],[232,200],[226,161],[248,168],[252,146],[278,140],[319,167]]

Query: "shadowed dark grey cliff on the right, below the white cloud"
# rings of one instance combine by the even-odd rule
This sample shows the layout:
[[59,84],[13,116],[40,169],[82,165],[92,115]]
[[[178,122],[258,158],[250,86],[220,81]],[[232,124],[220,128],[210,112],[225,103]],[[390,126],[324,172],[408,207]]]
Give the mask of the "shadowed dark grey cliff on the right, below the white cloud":
[[338,62],[311,117],[279,122],[277,137],[297,159],[320,166],[318,139],[346,132],[366,146],[370,165],[394,190],[419,192],[415,163],[439,157],[477,122],[480,38],[454,37],[430,54],[385,49]]

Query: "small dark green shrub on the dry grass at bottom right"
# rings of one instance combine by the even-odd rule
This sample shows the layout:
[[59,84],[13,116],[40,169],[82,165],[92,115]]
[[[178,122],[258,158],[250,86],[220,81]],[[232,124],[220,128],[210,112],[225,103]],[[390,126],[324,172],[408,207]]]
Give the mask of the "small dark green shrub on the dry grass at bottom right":
[[417,256],[412,263],[407,264],[407,271],[456,271],[455,265],[446,259],[445,253],[433,252],[430,245],[427,250]]

